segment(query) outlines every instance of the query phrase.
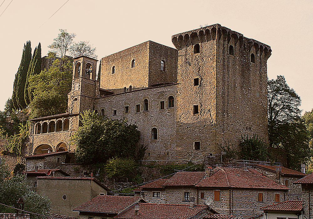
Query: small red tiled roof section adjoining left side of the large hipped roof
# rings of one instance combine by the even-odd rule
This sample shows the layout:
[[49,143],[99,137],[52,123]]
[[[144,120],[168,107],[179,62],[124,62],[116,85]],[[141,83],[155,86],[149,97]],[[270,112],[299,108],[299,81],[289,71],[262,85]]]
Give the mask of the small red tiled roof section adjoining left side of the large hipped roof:
[[205,172],[178,172],[165,181],[163,186],[195,186],[204,176]]

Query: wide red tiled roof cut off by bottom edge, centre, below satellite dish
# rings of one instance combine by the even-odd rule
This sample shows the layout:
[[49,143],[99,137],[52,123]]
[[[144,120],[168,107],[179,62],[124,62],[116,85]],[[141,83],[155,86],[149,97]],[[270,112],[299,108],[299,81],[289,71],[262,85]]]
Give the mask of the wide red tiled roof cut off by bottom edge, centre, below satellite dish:
[[[135,206],[139,206],[138,215],[135,215]],[[209,206],[174,205],[174,204],[150,204],[139,203],[114,218],[118,219],[188,219],[207,209]]]

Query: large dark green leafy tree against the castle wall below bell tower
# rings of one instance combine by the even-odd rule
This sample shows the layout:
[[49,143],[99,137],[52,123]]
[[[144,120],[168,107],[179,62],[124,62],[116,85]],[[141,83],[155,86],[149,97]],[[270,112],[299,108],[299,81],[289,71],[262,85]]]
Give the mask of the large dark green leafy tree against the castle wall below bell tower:
[[78,163],[105,163],[113,157],[138,159],[140,132],[126,120],[112,120],[91,112],[81,114],[82,126],[71,136]]

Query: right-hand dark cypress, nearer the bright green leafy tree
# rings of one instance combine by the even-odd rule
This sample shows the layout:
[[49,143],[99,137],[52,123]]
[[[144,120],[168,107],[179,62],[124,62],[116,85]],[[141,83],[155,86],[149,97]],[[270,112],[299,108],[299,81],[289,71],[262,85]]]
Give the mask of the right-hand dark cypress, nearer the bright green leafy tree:
[[41,45],[38,44],[38,47],[35,48],[33,58],[29,64],[27,79],[24,89],[24,98],[25,103],[28,105],[33,100],[33,89],[29,88],[29,79],[36,74],[39,74],[41,71]]

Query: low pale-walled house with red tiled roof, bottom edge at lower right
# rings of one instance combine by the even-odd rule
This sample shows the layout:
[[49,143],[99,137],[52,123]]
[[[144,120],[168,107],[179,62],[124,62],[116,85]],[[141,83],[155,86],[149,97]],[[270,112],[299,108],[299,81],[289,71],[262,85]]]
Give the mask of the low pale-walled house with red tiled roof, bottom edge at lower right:
[[302,201],[284,201],[261,208],[264,219],[302,219]]

